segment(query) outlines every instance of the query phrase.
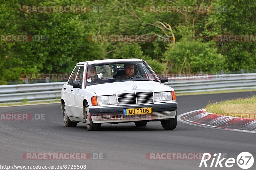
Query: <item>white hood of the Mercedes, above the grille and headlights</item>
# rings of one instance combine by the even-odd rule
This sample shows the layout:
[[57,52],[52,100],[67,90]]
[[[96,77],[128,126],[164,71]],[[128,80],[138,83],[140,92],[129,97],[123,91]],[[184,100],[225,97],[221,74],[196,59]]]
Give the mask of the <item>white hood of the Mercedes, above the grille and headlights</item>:
[[[136,89],[134,89],[135,87],[133,85],[136,85]],[[116,93],[125,93],[125,91],[134,92],[134,90],[138,92],[140,90],[148,90],[153,92],[173,91],[173,89],[167,85],[152,81],[112,82],[86,86],[86,89],[95,92],[97,96],[116,95]]]

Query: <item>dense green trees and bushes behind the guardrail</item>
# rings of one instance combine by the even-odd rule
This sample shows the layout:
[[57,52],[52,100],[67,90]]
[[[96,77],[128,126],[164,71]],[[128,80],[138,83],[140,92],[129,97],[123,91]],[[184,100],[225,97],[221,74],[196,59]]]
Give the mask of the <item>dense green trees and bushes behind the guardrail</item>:
[[[100,6],[100,12],[24,13],[23,6]],[[147,6],[211,6],[227,11],[149,13]],[[41,42],[0,42],[0,85],[25,73],[70,72],[80,61],[142,58],[157,73],[256,69],[255,42],[216,42],[221,34],[255,35],[255,0],[1,0],[0,35],[46,35]],[[89,35],[175,36],[153,42],[91,42]],[[163,26],[162,26],[163,27]],[[157,40],[161,40],[158,38]]]

